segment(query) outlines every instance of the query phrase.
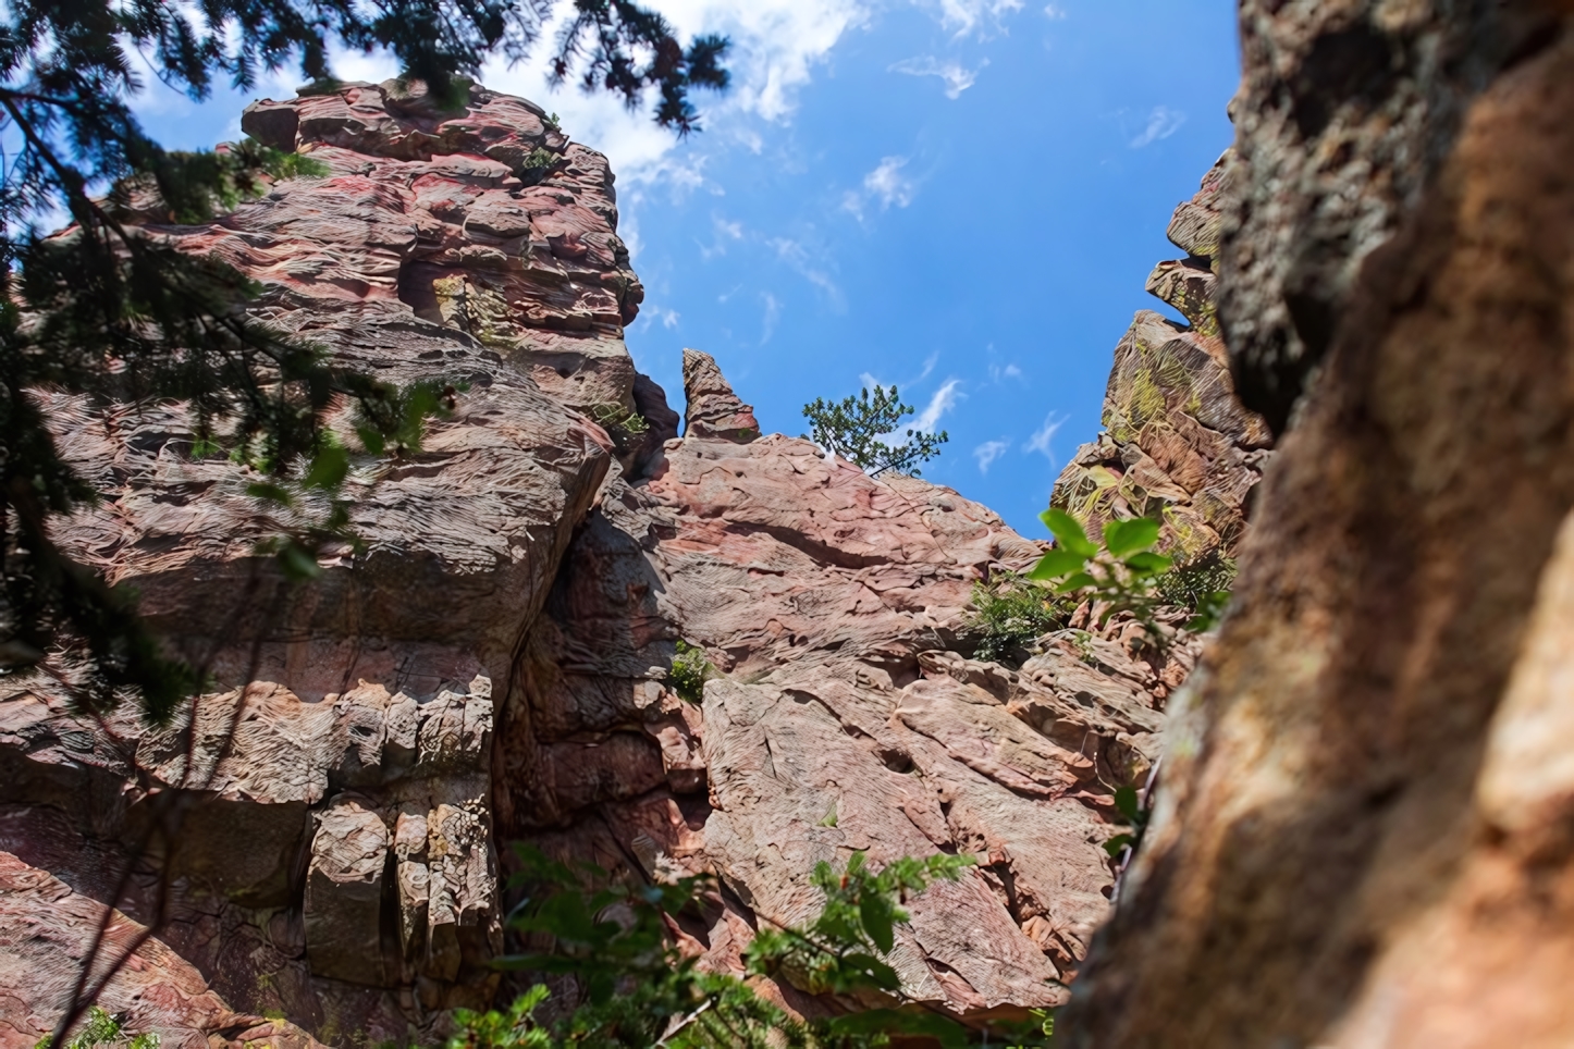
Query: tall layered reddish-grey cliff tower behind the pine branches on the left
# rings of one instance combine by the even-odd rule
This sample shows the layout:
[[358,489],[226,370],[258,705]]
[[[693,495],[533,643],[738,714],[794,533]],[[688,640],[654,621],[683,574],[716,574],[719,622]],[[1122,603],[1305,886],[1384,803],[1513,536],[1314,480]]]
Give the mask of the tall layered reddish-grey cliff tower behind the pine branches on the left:
[[[176,409],[54,398],[66,453],[105,494],[65,544],[134,583],[154,624],[228,690],[150,734],[131,717],[71,717],[47,679],[6,681],[0,804],[60,816],[6,848],[112,900],[113,881],[72,881],[35,854],[96,841],[104,863],[124,865],[157,796],[194,788],[167,856],[175,918],[159,950],[236,1010],[324,1040],[403,1041],[496,985],[493,689],[507,694],[620,451],[590,415],[672,420],[622,341],[639,285],[606,160],[540,110],[477,88],[445,115],[420,91],[349,85],[261,102],[242,124],[329,175],[280,182],[212,225],[150,233],[247,272],[263,286],[258,316],[342,362],[467,390],[419,455],[356,464],[365,550],[329,552],[302,590],[255,555],[274,524],[247,477],[192,461]],[[120,903],[153,920],[153,896]],[[33,1014],[65,986],[35,983]]]

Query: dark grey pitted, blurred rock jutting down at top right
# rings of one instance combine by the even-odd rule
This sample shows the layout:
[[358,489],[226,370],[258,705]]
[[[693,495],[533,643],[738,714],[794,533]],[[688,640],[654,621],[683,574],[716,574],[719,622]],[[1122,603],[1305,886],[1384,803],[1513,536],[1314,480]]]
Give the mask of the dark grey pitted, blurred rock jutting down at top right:
[[1558,31],[1557,0],[1242,0],[1240,206],[1220,316],[1240,399],[1281,432],[1366,255],[1450,156],[1472,99]]

